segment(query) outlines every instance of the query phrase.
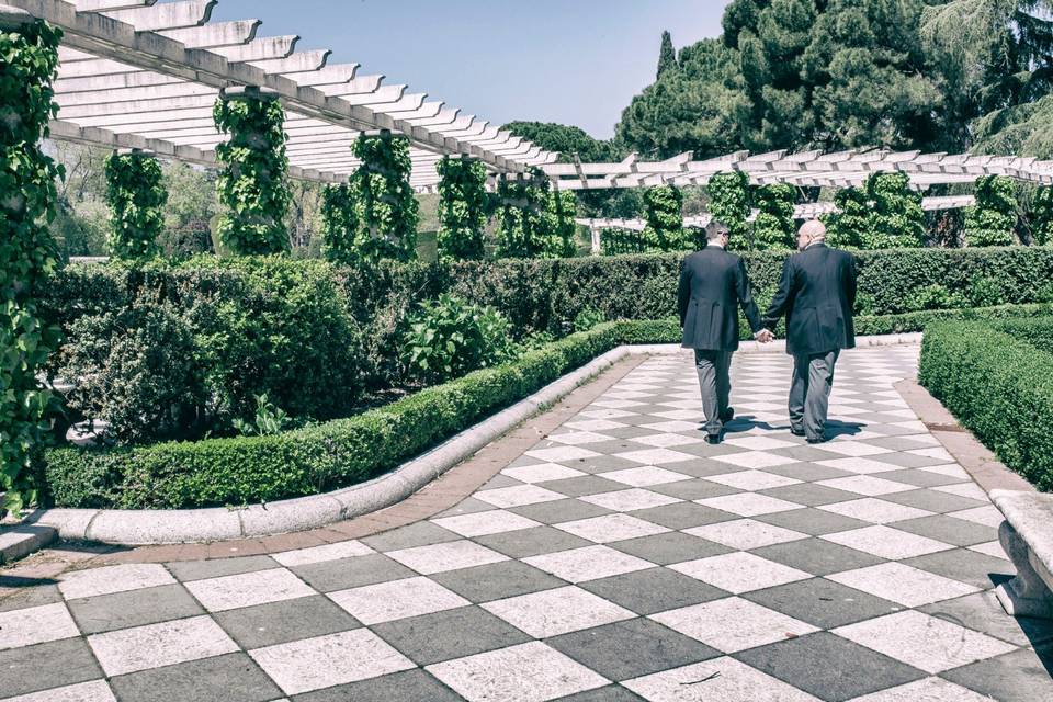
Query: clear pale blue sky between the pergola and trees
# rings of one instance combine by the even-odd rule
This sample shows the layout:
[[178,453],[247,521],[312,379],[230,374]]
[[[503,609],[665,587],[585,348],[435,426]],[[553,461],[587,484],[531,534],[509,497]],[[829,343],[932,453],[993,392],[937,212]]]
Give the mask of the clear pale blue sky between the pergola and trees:
[[727,0],[220,0],[216,20],[443,100],[491,123],[537,120],[613,135],[654,80],[661,31],[677,47],[717,36]]

